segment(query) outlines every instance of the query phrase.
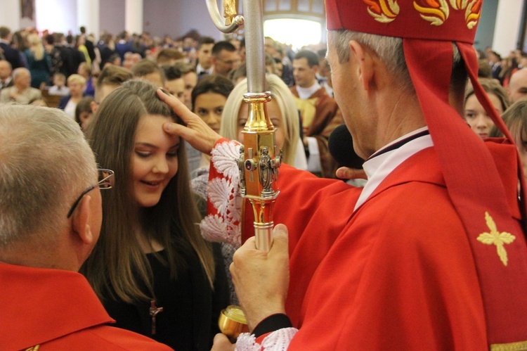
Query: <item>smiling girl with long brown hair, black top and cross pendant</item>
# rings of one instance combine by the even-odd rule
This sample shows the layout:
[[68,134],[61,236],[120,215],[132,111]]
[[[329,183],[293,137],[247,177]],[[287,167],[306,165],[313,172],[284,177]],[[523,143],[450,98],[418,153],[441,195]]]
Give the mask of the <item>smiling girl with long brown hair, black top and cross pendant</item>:
[[175,350],[210,350],[228,304],[219,247],[195,225],[185,149],[163,132],[176,116],[139,80],[112,91],[88,127],[101,167],[115,170],[103,224],[81,272],[119,328]]

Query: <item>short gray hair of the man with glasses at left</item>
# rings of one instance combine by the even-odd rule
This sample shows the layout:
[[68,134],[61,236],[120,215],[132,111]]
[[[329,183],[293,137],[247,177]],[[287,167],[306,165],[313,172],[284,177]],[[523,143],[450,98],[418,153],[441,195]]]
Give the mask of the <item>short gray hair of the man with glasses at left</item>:
[[96,182],[79,125],[56,108],[0,104],[0,248],[33,237],[43,245],[67,226],[67,211]]

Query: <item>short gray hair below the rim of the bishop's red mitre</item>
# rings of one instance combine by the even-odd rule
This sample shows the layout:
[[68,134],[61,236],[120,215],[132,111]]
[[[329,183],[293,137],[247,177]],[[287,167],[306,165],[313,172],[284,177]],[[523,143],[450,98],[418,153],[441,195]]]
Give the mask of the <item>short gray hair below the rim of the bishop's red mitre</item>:
[[[401,89],[408,92],[415,91],[410,72],[408,72],[408,66],[406,65],[402,38],[353,32],[351,30],[330,30],[327,32],[327,39],[336,49],[339,63],[349,60],[349,42],[355,40],[359,44],[367,46],[379,56],[384,65],[386,65],[386,70],[394,77],[394,81],[400,84]],[[462,60],[460,51],[455,44],[453,44],[453,51],[453,78],[457,78],[455,75],[460,74]],[[452,81],[457,82],[457,79],[452,79]]]

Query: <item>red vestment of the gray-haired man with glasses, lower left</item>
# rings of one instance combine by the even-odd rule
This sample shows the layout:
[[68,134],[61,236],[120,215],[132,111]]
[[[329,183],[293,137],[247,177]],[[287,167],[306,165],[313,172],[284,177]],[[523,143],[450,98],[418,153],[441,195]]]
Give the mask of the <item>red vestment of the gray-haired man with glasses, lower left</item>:
[[171,350],[115,321],[81,274],[0,262],[0,350]]

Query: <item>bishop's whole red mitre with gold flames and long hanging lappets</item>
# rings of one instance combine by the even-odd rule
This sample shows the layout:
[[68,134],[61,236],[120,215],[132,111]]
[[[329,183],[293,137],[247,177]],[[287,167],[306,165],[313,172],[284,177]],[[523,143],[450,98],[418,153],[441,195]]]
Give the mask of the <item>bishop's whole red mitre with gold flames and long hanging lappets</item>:
[[[488,343],[527,340],[527,246],[521,162],[498,171],[489,148],[448,102],[455,43],[476,97],[516,153],[514,141],[477,79],[472,47],[482,0],[326,0],[327,30],[403,38],[405,60],[434,141],[448,194],[474,255],[486,312]],[[510,158],[509,158],[510,159]],[[500,172],[521,182],[504,184]],[[516,175],[517,174],[517,175]],[[514,187],[514,191],[512,188]],[[511,196],[512,193],[512,196]],[[426,233],[423,233],[426,235]],[[445,233],[448,240],[448,233]],[[448,253],[445,253],[448,255]],[[455,267],[453,267],[455,269]],[[467,326],[470,328],[470,326]]]

